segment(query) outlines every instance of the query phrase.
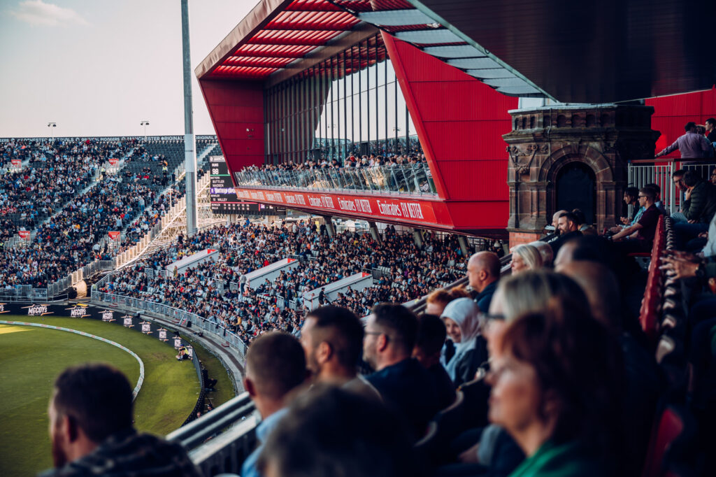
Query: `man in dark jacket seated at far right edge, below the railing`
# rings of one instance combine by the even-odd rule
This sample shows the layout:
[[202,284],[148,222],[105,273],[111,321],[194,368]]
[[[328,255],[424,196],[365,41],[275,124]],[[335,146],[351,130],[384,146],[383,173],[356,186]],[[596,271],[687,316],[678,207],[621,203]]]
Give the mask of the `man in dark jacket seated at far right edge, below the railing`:
[[716,213],[716,186],[702,180],[695,170],[687,170],[683,181],[686,186],[683,209],[687,222],[674,223],[677,249],[680,250],[684,249],[687,241],[709,229],[709,223]]

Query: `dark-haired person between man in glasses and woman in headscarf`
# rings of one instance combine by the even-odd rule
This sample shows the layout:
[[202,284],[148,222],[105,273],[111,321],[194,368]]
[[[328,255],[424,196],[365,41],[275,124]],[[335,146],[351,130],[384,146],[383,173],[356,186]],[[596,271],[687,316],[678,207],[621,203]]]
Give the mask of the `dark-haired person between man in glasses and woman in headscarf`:
[[417,320],[417,339],[412,348],[412,357],[432,375],[439,407],[445,409],[455,401],[453,380],[450,380],[450,375],[440,363],[440,350],[447,337],[445,323],[434,314],[422,314]]

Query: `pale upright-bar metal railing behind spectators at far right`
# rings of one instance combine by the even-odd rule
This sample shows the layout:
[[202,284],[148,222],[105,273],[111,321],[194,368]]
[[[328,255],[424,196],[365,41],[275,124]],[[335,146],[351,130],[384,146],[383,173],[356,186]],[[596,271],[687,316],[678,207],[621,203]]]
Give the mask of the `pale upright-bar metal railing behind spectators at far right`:
[[682,204],[681,191],[674,184],[672,175],[679,169],[696,170],[702,179],[709,180],[715,162],[695,162],[675,159],[632,160],[629,163],[629,186],[644,187],[654,183],[661,189],[662,203],[669,213],[679,210]]

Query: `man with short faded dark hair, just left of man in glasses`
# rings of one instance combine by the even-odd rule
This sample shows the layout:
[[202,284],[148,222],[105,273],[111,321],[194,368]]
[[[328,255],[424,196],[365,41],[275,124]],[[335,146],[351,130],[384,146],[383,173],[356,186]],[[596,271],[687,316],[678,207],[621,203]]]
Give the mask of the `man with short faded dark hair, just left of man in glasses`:
[[334,305],[314,309],[301,328],[301,344],[314,382],[380,399],[375,387],[357,372],[363,350],[363,324],[354,312]]

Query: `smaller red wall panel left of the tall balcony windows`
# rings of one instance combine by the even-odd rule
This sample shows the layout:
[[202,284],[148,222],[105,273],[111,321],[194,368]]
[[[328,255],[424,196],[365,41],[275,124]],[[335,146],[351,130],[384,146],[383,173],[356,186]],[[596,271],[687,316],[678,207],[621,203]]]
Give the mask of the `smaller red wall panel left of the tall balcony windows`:
[[199,80],[229,170],[263,164],[261,82]]

